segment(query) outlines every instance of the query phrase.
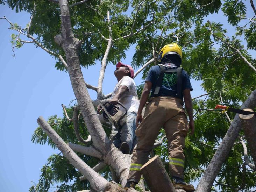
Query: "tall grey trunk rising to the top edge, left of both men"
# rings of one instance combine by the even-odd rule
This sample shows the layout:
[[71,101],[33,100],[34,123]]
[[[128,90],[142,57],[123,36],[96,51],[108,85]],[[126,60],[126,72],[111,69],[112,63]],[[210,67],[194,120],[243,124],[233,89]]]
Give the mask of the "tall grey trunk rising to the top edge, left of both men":
[[71,85],[92,142],[97,149],[104,153],[110,148],[111,143],[101,126],[85,85],[78,57],[78,50],[82,42],[73,35],[67,0],[59,0],[59,7],[62,33],[55,36],[55,41],[65,51]]

